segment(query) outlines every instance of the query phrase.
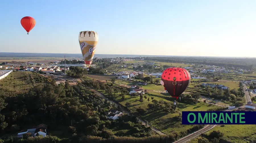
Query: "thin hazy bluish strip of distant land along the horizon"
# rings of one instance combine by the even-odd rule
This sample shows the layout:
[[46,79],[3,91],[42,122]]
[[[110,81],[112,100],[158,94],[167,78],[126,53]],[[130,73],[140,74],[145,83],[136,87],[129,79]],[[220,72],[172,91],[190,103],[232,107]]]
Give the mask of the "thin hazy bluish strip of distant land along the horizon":
[[[0,58],[80,58],[82,59],[82,54],[63,54],[63,53],[6,53],[0,52]],[[121,54],[95,54],[94,58],[116,58],[116,57],[209,57],[209,56],[165,56],[165,55],[121,55]],[[211,58],[253,58],[253,57],[211,57]]]

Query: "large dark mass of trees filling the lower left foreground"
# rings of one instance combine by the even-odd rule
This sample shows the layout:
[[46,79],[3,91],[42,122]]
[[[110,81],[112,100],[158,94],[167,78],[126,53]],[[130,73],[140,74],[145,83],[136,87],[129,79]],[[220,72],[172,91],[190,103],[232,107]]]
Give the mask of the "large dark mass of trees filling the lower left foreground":
[[[108,85],[94,84],[92,86],[106,89]],[[109,87],[115,90],[112,86]],[[128,92],[125,89],[119,89],[119,91],[125,94]],[[0,136],[26,130],[31,123],[49,125],[50,135],[47,138],[40,136],[32,138],[28,134],[24,135],[23,139],[5,138],[5,142],[38,142],[39,140],[40,142],[59,142],[60,139],[51,136],[51,133],[60,127],[63,132],[62,136],[69,138],[69,142],[79,142],[85,138],[108,140],[110,137],[119,140],[120,137],[116,136],[133,136],[131,138],[137,140],[137,137],[146,139],[146,137],[155,135],[150,127],[141,125],[139,120],[133,116],[108,120],[106,116],[108,110],[118,108],[86,89],[83,84],[71,86],[66,81],[65,84],[57,85],[49,80],[18,96],[5,96],[4,92],[0,93]],[[113,133],[114,129],[117,132]],[[174,141],[175,137],[171,137],[170,140]]]

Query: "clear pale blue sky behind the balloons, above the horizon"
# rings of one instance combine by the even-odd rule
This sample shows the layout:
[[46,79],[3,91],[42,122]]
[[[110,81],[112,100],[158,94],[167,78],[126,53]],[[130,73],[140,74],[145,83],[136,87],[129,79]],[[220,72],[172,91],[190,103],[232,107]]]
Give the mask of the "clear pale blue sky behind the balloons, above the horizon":
[[[255,0],[13,0],[0,2],[0,52],[256,57]],[[20,24],[36,19],[29,35]],[[244,51],[247,49],[249,52]],[[251,55],[250,55],[251,53]]]

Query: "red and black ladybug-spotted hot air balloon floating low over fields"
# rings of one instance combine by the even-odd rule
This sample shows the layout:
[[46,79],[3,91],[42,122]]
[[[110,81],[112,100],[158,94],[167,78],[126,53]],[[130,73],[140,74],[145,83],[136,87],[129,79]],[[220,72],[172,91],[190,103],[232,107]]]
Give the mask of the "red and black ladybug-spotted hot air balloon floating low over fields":
[[162,73],[161,84],[176,100],[187,89],[190,83],[190,74],[183,68],[168,68]]

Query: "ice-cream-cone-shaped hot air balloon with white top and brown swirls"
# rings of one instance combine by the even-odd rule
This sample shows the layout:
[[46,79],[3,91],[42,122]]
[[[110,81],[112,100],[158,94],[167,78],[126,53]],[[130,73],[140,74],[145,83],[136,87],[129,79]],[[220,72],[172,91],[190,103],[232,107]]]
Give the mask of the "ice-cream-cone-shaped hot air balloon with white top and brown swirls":
[[98,33],[94,31],[81,31],[79,33],[79,45],[84,58],[84,64],[89,67],[98,44]]

